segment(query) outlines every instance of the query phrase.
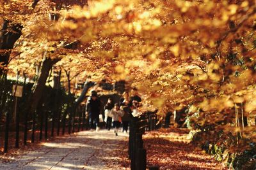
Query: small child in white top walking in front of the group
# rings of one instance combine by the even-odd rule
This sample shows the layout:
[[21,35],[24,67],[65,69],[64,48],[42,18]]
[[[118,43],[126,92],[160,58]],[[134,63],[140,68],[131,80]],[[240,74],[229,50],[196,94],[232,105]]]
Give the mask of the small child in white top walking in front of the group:
[[110,111],[110,115],[112,116],[112,122],[113,122],[113,127],[115,129],[115,134],[118,136],[117,131],[118,127],[120,127],[120,117],[124,116],[124,110],[119,108],[119,105],[116,103],[114,108]]

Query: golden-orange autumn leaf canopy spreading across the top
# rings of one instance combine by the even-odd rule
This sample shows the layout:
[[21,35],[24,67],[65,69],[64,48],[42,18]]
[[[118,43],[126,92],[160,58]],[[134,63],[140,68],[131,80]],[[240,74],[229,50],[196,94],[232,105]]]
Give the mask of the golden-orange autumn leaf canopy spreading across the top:
[[[137,87],[141,110],[189,105],[199,125],[227,123],[234,108],[256,110],[253,0],[2,0],[0,11],[1,24],[23,27],[10,74],[33,77],[43,57],[57,59],[53,69],[78,79],[91,74]],[[238,131],[226,123],[218,128]]]

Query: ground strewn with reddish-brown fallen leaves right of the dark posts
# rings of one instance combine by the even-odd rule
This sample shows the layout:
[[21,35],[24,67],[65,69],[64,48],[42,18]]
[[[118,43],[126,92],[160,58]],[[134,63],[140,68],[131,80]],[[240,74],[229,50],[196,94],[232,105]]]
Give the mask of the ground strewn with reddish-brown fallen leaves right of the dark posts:
[[188,129],[160,129],[143,136],[147,166],[160,169],[226,169],[220,162],[192,145]]

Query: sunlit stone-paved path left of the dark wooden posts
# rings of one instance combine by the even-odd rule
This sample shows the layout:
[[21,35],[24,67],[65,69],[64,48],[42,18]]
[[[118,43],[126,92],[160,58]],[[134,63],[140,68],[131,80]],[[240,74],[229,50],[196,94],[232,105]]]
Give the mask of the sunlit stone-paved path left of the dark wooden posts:
[[109,161],[118,159],[112,152],[128,137],[113,130],[82,131],[42,143],[33,152],[25,152],[14,161],[0,164],[0,169],[113,169]]

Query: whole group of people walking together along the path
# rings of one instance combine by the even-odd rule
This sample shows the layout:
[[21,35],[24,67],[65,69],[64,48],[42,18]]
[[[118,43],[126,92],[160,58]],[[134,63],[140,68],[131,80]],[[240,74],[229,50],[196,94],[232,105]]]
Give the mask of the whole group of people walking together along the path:
[[108,102],[104,106],[103,116],[100,115],[101,101],[99,97],[97,97],[97,92],[93,90],[86,103],[86,115],[89,117],[90,128],[93,129],[95,125],[96,131],[99,131],[100,117],[104,117],[106,129],[110,131],[111,127],[113,127],[116,136],[118,136],[118,128],[121,124],[122,131],[127,132],[131,117],[138,114],[137,108],[140,102],[141,98],[136,91],[131,97],[129,97],[127,92],[124,92],[118,103],[114,103],[111,98],[108,99]]

